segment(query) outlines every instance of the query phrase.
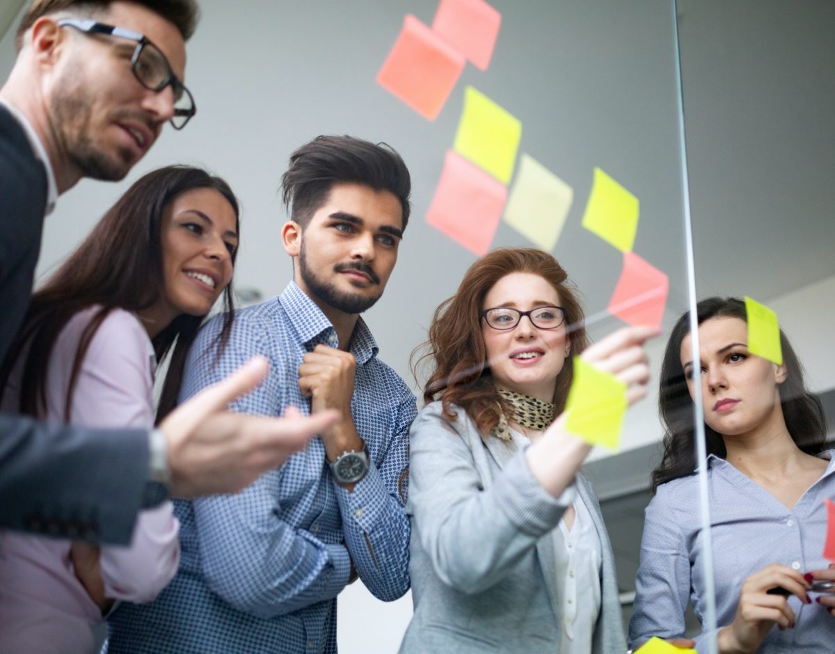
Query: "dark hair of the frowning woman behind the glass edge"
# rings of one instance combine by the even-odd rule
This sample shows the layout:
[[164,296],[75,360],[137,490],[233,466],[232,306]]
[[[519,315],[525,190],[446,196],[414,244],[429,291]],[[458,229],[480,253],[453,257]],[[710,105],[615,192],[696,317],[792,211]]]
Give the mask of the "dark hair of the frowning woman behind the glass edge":
[[[748,322],[745,302],[736,297],[708,297],[696,305],[698,324],[711,318],[733,317]],[[661,363],[658,413],[664,425],[664,456],[652,471],[650,488],[686,477],[696,469],[696,425],[693,401],[681,366],[681,342],[690,333],[690,313],[685,313],[670,334]],[[786,381],[779,385],[780,404],[788,433],[803,452],[817,454],[827,438],[827,423],[817,395],[810,393],[803,380],[803,367],[786,334],[780,330]],[[725,441],[705,423],[707,454],[726,457]]]

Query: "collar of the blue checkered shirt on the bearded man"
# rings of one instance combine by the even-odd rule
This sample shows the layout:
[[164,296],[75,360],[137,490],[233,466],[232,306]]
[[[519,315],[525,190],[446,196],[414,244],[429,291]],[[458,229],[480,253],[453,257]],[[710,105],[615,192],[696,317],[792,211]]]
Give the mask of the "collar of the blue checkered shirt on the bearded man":
[[[331,347],[339,347],[337,332],[321,309],[310,297],[299,288],[295,281],[287,284],[278,297],[301,342],[311,349],[322,343]],[[351,353],[357,359],[357,364],[365,365],[377,356],[380,347],[374,340],[371,330],[362,317],[357,318],[357,324],[351,335]]]

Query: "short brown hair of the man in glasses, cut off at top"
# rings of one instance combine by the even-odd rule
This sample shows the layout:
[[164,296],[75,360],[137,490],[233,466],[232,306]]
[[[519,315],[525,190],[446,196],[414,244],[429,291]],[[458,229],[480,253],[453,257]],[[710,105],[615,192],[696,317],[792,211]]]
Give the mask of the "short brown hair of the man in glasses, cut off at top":
[[[14,47],[23,48],[23,34],[42,16],[52,13],[73,13],[76,18],[94,18],[109,8],[114,0],[34,0],[14,34]],[[195,33],[200,9],[195,0],[129,0],[130,3],[148,8],[175,26],[188,41]]]

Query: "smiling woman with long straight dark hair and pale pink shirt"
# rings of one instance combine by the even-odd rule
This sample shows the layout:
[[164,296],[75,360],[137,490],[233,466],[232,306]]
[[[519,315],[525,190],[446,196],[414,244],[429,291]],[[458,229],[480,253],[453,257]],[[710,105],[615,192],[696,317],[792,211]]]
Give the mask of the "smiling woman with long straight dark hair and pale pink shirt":
[[[231,309],[238,213],[225,181],[197,168],[132,185],[35,293],[0,373],[3,410],[103,428],[163,418],[200,323],[221,293]],[[154,420],[154,368],[169,352]],[[84,543],[90,520],[78,516],[74,542],[0,535],[0,651],[92,651],[114,600],[149,601],[175,575],[170,501],[140,512],[128,547]]]

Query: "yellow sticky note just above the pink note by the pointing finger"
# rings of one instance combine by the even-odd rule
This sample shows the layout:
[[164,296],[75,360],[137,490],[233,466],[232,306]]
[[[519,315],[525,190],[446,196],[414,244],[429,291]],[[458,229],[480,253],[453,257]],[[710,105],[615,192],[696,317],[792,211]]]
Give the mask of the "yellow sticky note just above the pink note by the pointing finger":
[[632,251],[638,231],[638,198],[600,168],[595,168],[583,226],[622,252]]

